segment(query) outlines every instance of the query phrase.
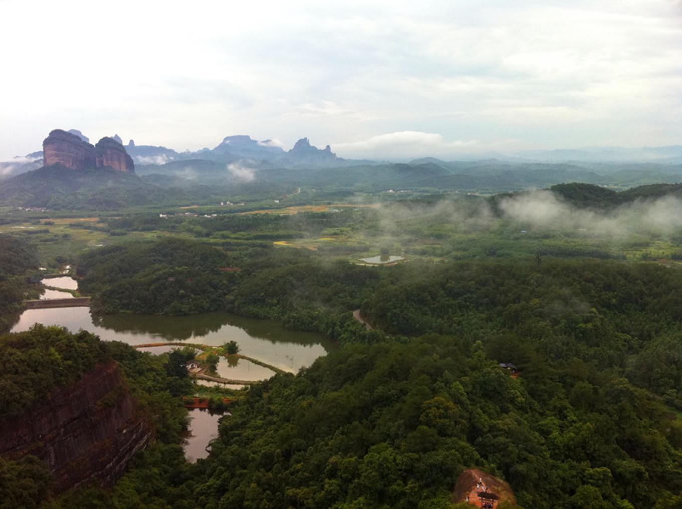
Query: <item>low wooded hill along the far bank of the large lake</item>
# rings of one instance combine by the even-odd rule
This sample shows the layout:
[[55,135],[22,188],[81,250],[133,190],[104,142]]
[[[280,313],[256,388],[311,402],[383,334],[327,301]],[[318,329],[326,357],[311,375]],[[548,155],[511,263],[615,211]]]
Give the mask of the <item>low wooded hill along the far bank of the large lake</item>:
[[303,250],[269,246],[228,251],[168,238],[88,252],[78,261],[78,274],[83,276],[80,291],[93,295],[95,312],[188,315],[228,310],[341,340],[380,337],[349,312],[369,296],[378,273]]

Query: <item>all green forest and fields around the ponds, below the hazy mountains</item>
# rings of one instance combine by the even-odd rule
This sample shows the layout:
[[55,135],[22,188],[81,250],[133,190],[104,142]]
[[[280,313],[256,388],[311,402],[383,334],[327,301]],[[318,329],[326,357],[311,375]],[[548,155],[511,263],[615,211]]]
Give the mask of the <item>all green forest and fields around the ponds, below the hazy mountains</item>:
[[[420,171],[447,169],[436,165]],[[418,176],[413,165],[390,171]],[[562,184],[299,214],[205,208],[207,216],[37,223],[44,228],[30,237],[39,252],[56,263],[55,246],[73,248],[68,259],[95,312],[227,310],[322,332],[342,347],[299,375],[253,386],[195,465],[177,446],[181,396],[196,393],[190,349],[155,357],[38,328],[26,333],[28,350],[21,336],[0,340],[11,366],[0,403],[18,415],[104,355],[121,363],[154,416],[159,443],[113,491],[81,489],[54,507],[447,508],[457,476],[478,466],[507,480],[526,508],[679,508],[682,237],[670,221],[655,229],[628,208],[677,194],[675,185]],[[527,197],[555,207],[556,220],[510,207]],[[674,207],[666,207],[654,212],[668,220]],[[616,227],[623,232],[608,236]],[[74,256],[85,244],[62,235],[110,245]],[[23,258],[3,265],[18,287],[35,265],[27,236],[5,241],[19,249],[12,263]],[[379,253],[407,261],[355,264]],[[353,318],[358,309],[374,330]],[[67,351],[84,353],[72,361]],[[220,349],[237,351],[235,342]],[[202,362],[214,366],[218,355]],[[500,362],[516,364],[520,377]],[[207,392],[220,401],[220,389]],[[44,497],[44,475],[30,461],[0,463],[0,478],[27,479],[29,500]]]

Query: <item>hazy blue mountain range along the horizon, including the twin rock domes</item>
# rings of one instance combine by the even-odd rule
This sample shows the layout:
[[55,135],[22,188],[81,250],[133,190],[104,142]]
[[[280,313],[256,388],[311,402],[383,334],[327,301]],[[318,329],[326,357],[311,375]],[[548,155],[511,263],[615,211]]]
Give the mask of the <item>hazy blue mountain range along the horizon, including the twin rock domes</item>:
[[[44,152],[0,165],[0,205],[115,209],[188,200],[210,203],[216,197],[243,199],[263,193],[277,197],[296,189],[318,196],[401,190],[492,194],[578,181],[627,188],[682,181],[682,164],[674,164],[674,155],[682,154],[679,149],[638,152],[659,156],[655,162],[537,162],[490,154],[484,160],[419,158],[393,163],[339,158],[329,145],[319,149],[307,138],[286,151],[270,140],[237,135],[226,136],[213,149],[177,152],[136,145],[133,140],[122,145],[117,134],[91,145],[78,130],[53,130],[44,141]],[[635,154],[627,150],[595,154]],[[553,151],[546,158],[578,156],[568,152]]]

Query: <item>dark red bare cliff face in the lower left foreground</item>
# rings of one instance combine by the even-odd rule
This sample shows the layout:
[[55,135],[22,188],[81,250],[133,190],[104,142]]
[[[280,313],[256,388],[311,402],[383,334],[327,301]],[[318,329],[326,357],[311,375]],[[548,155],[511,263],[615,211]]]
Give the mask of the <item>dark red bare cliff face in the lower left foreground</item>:
[[24,416],[0,426],[0,454],[33,454],[54,475],[54,493],[96,482],[111,486],[153,439],[115,361],[50,393]]

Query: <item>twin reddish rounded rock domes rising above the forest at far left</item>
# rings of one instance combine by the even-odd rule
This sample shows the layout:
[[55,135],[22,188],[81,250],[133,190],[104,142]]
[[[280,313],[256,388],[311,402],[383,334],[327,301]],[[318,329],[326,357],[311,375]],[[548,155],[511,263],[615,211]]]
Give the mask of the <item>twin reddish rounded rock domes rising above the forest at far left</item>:
[[73,170],[110,166],[134,173],[135,165],[125,148],[111,138],[102,138],[93,147],[80,136],[55,129],[43,141],[44,166],[62,164]]

